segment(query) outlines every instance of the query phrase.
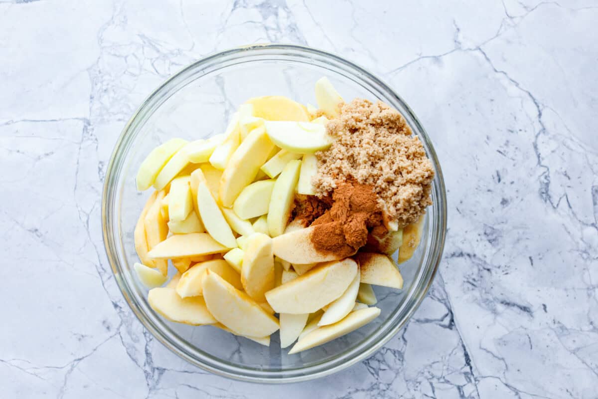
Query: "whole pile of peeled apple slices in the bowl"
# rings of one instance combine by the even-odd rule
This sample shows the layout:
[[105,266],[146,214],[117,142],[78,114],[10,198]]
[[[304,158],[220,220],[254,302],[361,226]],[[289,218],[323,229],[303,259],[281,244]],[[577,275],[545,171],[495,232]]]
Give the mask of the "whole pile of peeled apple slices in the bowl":
[[[316,100],[331,117],[342,98],[322,78]],[[331,145],[327,116],[315,114],[315,107],[288,98],[252,98],[224,134],[171,139],[149,153],[136,184],[155,191],[135,227],[141,260],[135,269],[151,288],[155,312],[262,345],[280,330],[282,348],[297,341],[294,354],[376,318],[380,309],[368,307],[376,303],[371,284],[402,288],[387,255],[322,255],[310,243],[309,228],[288,224],[295,195],[314,194],[314,153]],[[420,234],[418,225],[380,239],[388,242],[386,252],[401,246],[409,257]],[[161,287],[169,260],[178,273]]]

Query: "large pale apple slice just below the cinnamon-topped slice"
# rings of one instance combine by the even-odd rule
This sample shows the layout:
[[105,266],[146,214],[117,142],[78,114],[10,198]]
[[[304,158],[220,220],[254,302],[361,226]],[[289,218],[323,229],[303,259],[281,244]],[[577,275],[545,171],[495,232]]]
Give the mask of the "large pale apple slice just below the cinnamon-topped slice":
[[312,313],[343,295],[357,269],[349,258],[325,263],[268,291],[266,299],[277,313]]

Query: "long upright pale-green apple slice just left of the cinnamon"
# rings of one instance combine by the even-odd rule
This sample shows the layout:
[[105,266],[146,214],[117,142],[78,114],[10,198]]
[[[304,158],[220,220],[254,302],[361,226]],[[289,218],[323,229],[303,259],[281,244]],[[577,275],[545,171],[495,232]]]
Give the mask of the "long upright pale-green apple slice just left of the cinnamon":
[[300,168],[300,160],[289,161],[274,182],[267,216],[271,237],[280,236],[285,232],[295,199],[295,187],[297,187]]

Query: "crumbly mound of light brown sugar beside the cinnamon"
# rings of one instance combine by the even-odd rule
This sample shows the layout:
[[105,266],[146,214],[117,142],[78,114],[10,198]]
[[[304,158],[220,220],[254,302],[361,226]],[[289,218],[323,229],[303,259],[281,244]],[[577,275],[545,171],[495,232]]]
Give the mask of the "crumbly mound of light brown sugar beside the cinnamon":
[[347,181],[370,185],[379,205],[400,226],[416,222],[431,205],[432,163],[396,109],[355,99],[341,105],[326,129],[335,141],[316,153],[313,184],[319,197]]

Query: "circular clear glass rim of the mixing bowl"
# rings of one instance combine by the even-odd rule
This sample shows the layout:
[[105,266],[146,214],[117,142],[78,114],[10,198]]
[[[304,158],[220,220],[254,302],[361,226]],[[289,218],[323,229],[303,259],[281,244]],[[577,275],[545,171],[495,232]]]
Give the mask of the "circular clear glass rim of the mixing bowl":
[[[432,245],[435,244],[436,250],[432,254],[433,256],[430,260],[431,262],[428,261],[428,264],[431,265],[431,267],[429,267],[428,271],[427,271],[428,279],[426,281],[425,286],[421,288],[419,293],[414,294],[414,296],[416,296],[416,300],[413,303],[413,305],[407,310],[404,318],[402,318],[402,320],[400,320],[385,335],[380,337],[380,339],[377,342],[374,342],[366,350],[361,351],[361,352],[355,352],[355,350],[353,350],[353,352],[355,352],[354,356],[347,360],[344,360],[343,363],[337,364],[336,366],[333,366],[333,367],[327,367],[327,368],[323,368],[321,370],[316,370],[313,373],[297,373],[292,376],[281,376],[281,377],[274,377],[274,376],[267,376],[267,375],[266,376],[257,376],[257,375],[239,374],[239,373],[233,373],[230,371],[222,370],[221,368],[217,368],[217,367],[211,366],[209,364],[202,363],[201,361],[192,357],[190,354],[187,354],[185,351],[182,351],[176,345],[173,345],[172,342],[167,340],[166,337],[163,336],[161,331],[158,328],[156,328],[154,326],[154,324],[147,318],[147,316],[142,311],[142,309],[139,308],[138,304],[136,304],[135,301],[133,301],[131,299],[131,295],[129,292],[129,286],[123,280],[123,278],[121,278],[121,264],[118,261],[117,256],[112,253],[113,237],[111,236],[111,234],[109,232],[110,223],[108,223],[109,214],[111,214],[111,212],[109,212],[109,209],[108,209],[108,205],[109,205],[108,198],[109,198],[109,194],[111,194],[112,191],[114,191],[114,190],[112,190],[111,182],[113,180],[112,175],[114,173],[115,163],[117,162],[117,158],[118,158],[117,155],[119,153],[119,150],[123,147],[123,144],[127,140],[127,135],[130,131],[132,124],[139,118],[139,115],[142,114],[142,111],[144,111],[144,109],[148,108],[149,104],[152,103],[154,98],[156,98],[157,96],[160,95],[160,93],[162,92],[162,90],[165,87],[169,86],[169,84],[173,80],[176,80],[181,75],[184,75],[185,72],[190,71],[192,69],[200,68],[202,65],[208,64],[209,62],[211,62],[215,59],[234,56],[234,55],[240,54],[240,53],[248,53],[247,55],[251,55],[252,52],[257,52],[259,50],[264,50],[264,49],[279,50],[279,51],[285,51],[285,50],[286,51],[297,51],[299,53],[313,54],[315,56],[324,57],[325,59],[332,60],[333,62],[339,63],[343,66],[353,69],[353,71],[359,72],[359,74],[363,74],[368,80],[373,81],[375,84],[377,84],[377,86],[382,88],[386,95],[388,95],[389,97],[392,97],[394,100],[401,103],[401,106],[404,108],[404,111],[408,113],[411,121],[416,125],[416,128],[418,130],[417,135],[420,137],[420,139],[425,141],[426,147],[427,147],[426,152],[428,153],[428,156],[430,157],[432,163],[434,163],[434,169],[435,169],[436,174],[434,177],[433,190],[434,190],[434,193],[437,194],[436,195],[437,203],[435,203],[435,206],[437,206],[440,211],[440,212],[435,212],[438,214],[438,216],[437,216],[438,226],[440,226],[440,229],[438,229],[436,231],[436,233],[437,233],[437,236],[435,237],[436,242],[432,243]],[[440,203],[438,203],[438,201],[440,201]],[[401,328],[410,320],[411,316],[413,316],[413,313],[417,310],[419,305],[422,303],[423,299],[427,296],[429,288],[431,287],[432,282],[434,282],[434,278],[437,273],[438,266],[440,264],[440,261],[441,261],[442,255],[443,255],[444,242],[446,239],[446,232],[447,232],[446,223],[447,223],[446,187],[444,184],[444,178],[443,178],[443,173],[442,173],[442,170],[440,167],[440,163],[438,162],[438,157],[437,157],[436,151],[434,149],[434,146],[432,145],[432,142],[429,139],[428,133],[426,133],[426,130],[423,128],[422,124],[420,123],[419,119],[416,117],[416,115],[414,114],[414,112],[410,108],[410,106],[408,106],[407,103],[401,98],[401,96],[399,96],[397,93],[395,93],[395,91],[393,89],[391,89],[387,84],[385,84],[382,80],[380,80],[380,78],[377,78],[376,75],[372,74],[370,71],[363,68],[362,66],[356,65],[355,63],[350,62],[349,60],[346,60],[343,57],[329,53],[328,51],[319,50],[319,49],[316,49],[313,47],[307,47],[307,46],[303,46],[303,45],[295,45],[295,44],[252,44],[252,45],[245,45],[245,46],[230,48],[228,50],[220,51],[218,53],[209,54],[208,56],[203,57],[202,59],[199,59],[196,62],[193,62],[188,66],[185,66],[184,68],[180,69],[178,72],[176,72],[175,74],[173,74],[172,76],[167,78],[162,84],[160,84],[156,89],[154,89],[147,96],[147,98],[144,99],[144,101],[141,103],[141,105],[139,105],[139,107],[136,109],[136,111],[133,112],[133,115],[130,117],[129,121],[127,121],[126,125],[124,126],[120,136],[117,139],[117,142],[114,145],[114,150],[112,151],[110,160],[108,162],[108,166],[106,168],[106,174],[105,174],[105,181],[103,184],[103,191],[102,191],[102,234],[103,234],[103,243],[104,243],[104,249],[106,252],[106,257],[108,258],[108,262],[111,266],[112,273],[114,274],[115,281],[117,281],[117,284],[121,291],[121,294],[123,295],[127,304],[129,304],[129,307],[133,311],[135,316],[138,318],[138,320],[141,322],[141,324],[144,326],[144,328],[146,328],[155,339],[157,339],[159,342],[161,342],[170,351],[172,351],[179,357],[183,358],[184,360],[188,361],[188,363],[193,364],[194,366],[200,367],[203,370],[210,371],[214,374],[218,374],[220,376],[228,377],[231,379],[242,380],[245,382],[291,383],[291,382],[301,382],[301,381],[316,379],[316,378],[328,376],[330,374],[334,374],[334,373],[337,373],[338,371],[344,370],[345,368],[348,368],[348,367],[352,366],[353,364],[356,364],[359,361],[364,360],[365,358],[369,357],[370,355],[374,354],[374,352],[376,352],[380,348],[382,348],[382,346],[385,345],[387,342],[389,342],[389,340],[392,339],[392,337],[394,337],[396,335],[396,333],[398,333],[398,331],[401,330]],[[330,360],[330,361],[334,361],[334,359]],[[322,366],[322,364],[316,364],[314,366],[310,366],[310,368],[313,368],[313,367],[321,368],[321,366]],[[243,367],[235,366],[234,368],[243,368]],[[305,368],[295,368],[293,370],[305,370]],[[280,372],[288,373],[288,371],[280,371]]]

